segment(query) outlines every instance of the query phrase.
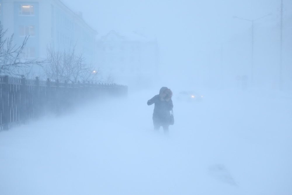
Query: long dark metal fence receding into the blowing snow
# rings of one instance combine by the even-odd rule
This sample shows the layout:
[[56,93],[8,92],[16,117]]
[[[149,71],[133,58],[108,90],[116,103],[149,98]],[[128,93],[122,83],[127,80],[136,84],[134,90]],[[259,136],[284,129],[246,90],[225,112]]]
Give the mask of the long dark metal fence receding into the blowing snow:
[[51,82],[0,76],[0,130],[48,113],[59,114],[78,102],[108,96],[125,96],[128,87],[93,82]]

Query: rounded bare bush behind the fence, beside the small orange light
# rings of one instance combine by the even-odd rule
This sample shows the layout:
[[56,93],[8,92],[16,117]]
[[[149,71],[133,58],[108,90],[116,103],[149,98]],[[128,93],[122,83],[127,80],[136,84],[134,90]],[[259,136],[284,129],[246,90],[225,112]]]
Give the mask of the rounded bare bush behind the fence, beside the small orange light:
[[98,74],[91,64],[87,64],[82,54],[76,54],[76,45],[70,44],[63,52],[55,51],[47,46],[48,65],[44,67],[46,76],[54,80],[67,80],[71,82],[93,81]]

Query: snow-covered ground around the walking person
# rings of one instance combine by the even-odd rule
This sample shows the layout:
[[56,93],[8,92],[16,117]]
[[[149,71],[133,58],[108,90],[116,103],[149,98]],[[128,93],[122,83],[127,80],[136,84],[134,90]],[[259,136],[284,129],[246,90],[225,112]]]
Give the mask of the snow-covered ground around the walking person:
[[174,96],[165,136],[146,104],[158,90],[0,132],[0,194],[292,194],[291,94]]

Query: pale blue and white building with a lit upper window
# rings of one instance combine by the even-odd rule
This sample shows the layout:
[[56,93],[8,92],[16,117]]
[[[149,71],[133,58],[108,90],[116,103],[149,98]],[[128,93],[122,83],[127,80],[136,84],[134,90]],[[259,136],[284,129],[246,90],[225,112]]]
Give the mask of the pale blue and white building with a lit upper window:
[[76,45],[87,63],[95,63],[97,32],[60,0],[0,0],[0,21],[15,44],[29,35],[27,58],[46,59],[48,46],[62,51]]

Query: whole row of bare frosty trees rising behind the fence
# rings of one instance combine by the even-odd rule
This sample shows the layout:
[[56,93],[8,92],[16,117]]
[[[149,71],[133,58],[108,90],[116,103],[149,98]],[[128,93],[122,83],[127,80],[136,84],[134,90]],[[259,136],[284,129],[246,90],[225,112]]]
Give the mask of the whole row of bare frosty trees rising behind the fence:
[[[47,58],[44,60],[27,59],[24,49],[29,36],[23,39],[22,44],[14,43],[14,34],[7,36],[8,29],[4,29],[0,22],[0,75],[12,77],[45,77],[53,81],[62,82],[101,82],[91,64],[86,63],[83,54],[78,54],[76,45],[70,44],[63,51],[56,51],[51,45],[47,46]],[[41,73],[35,73],[34,68],[39,66]],[[104,82],[113,83],[112,76]]]

